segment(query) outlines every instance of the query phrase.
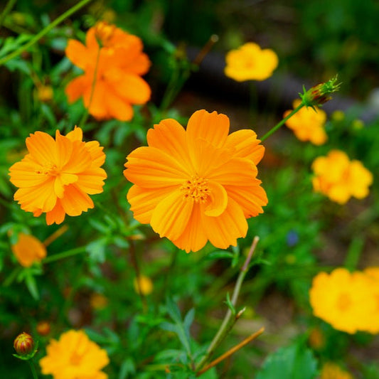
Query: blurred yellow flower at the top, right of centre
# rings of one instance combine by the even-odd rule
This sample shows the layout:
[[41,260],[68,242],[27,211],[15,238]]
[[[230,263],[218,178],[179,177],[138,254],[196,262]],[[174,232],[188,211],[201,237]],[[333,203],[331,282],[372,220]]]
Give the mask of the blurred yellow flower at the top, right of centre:
[[230,50],[225,57],[225,75],[245,82],[245,80],[265,80],[277,68],[279,60],[271,49],[261,49],[257,43],[248,42],[237,50]]

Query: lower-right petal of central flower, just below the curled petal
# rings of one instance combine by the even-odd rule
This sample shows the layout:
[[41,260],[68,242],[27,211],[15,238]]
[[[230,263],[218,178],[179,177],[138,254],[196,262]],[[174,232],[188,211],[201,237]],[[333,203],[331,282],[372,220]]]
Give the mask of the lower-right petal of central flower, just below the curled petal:
[[240,205],[233,198],[228,198],[225,212],[218,217],[209,217],[203,213],[202,224],[206,225],[205,233],[215,247],[226,249],[237,245],[237,238],[245,237],[247,221]]

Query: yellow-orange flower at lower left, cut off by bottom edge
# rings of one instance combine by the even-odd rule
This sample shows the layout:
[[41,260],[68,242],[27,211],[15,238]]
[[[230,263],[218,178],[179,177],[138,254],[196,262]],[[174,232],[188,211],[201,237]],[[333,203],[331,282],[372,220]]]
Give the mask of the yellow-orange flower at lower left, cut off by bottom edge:
[[47,355],[39,363],[43,375],[53,379],[107,379],[103,373],[109,362],[107,352],[90,341],[84,331],[70,330],[59,341],[50,340]]

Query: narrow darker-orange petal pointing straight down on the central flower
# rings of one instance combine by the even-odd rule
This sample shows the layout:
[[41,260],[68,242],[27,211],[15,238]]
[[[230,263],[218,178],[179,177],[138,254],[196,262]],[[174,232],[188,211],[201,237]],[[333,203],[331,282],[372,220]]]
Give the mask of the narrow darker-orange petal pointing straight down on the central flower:
[[179,249],[186,250],[186,252],[196,252],[204,247],[208,241],[205,228],[206,226],[202,223],[201,208],[198,204],[194,204],[186,228],[181,236],[172,242]]

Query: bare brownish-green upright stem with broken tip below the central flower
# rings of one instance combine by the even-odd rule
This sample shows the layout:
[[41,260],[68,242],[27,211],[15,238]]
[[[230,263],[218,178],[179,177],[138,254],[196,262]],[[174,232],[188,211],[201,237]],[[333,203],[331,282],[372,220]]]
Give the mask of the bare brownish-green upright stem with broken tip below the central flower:
[[[235,282],[233,296],[232,296],[232,299],[230,299],[230,302],[233,304],[233,306],[235,306],[235,304],[237,303],[237,298],[238,298],[238,295],[240,294],[240,289],[242,286],[243,279],[245,279],[245,276],[249,269],[250,260],[252,259],[252,255],[255,251],[255,248],[257,247],[257,243],[259,240],[260,240],[259,237],[257,236],[254,237],[254,240],[252,241],[252,245],[250,247],[250,251],[247,254],[246,260],[240,269],[240,274],[237,277],[237,282]],[[230,309],[228,309],[228,312],[226,313],[225,318],[223,320],[223,324],[221,324],[220,328],[218,329],[218,332],[216,333],[212,342],[210,343],[205,355],[196,366],[197,372],[201,370],[201,368],[203,368],[205,363],[207,363],[210,356],[213,355],[215,349],[218,348],[218,346],[223,341],[223,339],[228,335],[230,329],[232,329],[233,325],[235,324],[237,319],[239,319],[240,315],[241,315],[241,312],[238,312],[236,315],[234,315],[235,316],[234,319],[232,319],[233,313]]]

